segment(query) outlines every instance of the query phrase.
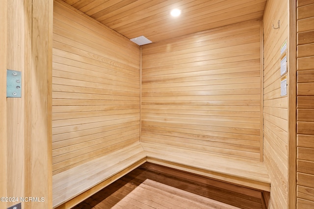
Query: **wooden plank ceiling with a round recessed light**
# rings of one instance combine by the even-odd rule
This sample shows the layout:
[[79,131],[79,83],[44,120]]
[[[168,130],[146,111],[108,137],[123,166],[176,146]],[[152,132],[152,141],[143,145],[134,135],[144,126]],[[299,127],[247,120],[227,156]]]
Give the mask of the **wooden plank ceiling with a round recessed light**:
[[[152,42],[262,18],[267,0],[64,0],[127,38]],[[170,11],[179,8],[179,17]]]

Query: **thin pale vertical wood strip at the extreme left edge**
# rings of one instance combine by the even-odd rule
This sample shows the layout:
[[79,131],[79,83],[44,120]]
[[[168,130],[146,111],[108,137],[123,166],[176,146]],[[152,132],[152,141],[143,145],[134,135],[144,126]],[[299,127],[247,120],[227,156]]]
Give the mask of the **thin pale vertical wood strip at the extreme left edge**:
[[[0,7],[0,197],[6,196],[6,39],[7,0]],[[0,201],[0,208],[6,203]]]

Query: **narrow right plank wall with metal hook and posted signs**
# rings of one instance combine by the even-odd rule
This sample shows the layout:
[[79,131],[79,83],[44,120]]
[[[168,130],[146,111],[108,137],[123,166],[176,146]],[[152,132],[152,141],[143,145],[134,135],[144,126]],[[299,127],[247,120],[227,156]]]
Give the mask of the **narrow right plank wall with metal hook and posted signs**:
[[[280,20],[280,28],[278,26]],[[280,49],[288,39],[288,1],[268,0],[264,12],[264,162],[271,178],[270,209],[287,209],[288,97],[280,94]]]

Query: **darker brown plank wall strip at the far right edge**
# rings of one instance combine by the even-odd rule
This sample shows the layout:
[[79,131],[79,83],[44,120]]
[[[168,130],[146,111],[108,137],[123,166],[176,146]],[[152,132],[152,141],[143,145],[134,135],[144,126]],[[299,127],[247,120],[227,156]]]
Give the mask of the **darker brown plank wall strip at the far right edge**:
[[314,1],[297,1],[297,208],[314,208]]

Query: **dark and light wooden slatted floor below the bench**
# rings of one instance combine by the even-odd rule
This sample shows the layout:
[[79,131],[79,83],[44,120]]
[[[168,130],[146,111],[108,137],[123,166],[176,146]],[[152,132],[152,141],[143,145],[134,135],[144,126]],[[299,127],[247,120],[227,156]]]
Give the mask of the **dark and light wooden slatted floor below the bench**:
[[73,209],[266,209],[263,192],[145,163]]

